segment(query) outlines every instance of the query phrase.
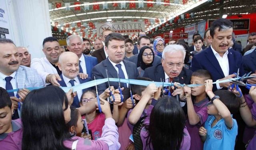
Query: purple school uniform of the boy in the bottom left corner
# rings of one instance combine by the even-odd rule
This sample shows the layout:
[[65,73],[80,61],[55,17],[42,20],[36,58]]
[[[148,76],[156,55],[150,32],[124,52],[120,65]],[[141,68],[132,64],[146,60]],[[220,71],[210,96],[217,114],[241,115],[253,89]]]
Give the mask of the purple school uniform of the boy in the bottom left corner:
[[20,119],[12,120],[12,132],[0,134],[1,150],[21,150],[22,123]]

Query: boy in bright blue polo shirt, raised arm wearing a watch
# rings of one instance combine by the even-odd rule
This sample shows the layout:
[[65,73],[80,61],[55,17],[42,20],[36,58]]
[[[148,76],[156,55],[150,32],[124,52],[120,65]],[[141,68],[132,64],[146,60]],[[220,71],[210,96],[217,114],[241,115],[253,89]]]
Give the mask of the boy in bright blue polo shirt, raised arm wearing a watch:
[[212,80],[206,80],[205,86],[211,101],[207,104],[209,116],[199,129],[204,150],[234,150],[238,125],[232,114],[239,110],[241,102],[228,90],[212,92]]

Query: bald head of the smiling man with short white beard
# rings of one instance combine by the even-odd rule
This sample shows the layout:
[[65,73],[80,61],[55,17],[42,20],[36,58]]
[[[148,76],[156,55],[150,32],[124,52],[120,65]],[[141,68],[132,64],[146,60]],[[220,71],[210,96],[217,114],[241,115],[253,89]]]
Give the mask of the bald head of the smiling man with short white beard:
[[73,52],[63,52],[60,54],[58,67],[62,71],[62,75],[70,80],[74,79],[79,73],[79,58]]

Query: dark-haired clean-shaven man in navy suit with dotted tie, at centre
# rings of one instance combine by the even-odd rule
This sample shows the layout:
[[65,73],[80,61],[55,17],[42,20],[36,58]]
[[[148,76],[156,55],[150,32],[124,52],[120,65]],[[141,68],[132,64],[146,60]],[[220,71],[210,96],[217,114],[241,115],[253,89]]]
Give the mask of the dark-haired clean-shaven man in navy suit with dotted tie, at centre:
[[[96,79],[107,78],[106,69],[108,70],[109,78],[117,78],[117,73],[120,78],[136,79],[139,76],[137,67],[134,63],[124,60],[125,46],[124,36],[119,33],[110,33],[105,40],[105,50],[108,58],[92,68],[92,78]],[[118,82],[110,82],[110,86],[118,88]],[[108,82],[97,86],[98,92],[101,94],[108,88]],[[121,83],[121,88],[128,87],[128,84]]]

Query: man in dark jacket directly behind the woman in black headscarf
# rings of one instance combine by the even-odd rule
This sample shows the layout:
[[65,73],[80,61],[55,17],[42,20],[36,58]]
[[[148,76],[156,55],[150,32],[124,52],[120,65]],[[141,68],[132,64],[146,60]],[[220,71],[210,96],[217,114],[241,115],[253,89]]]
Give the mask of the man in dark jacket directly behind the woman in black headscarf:
[[[142,48],[143,46],[150,46],[150,38],[148,36],[140,36],[139,37],[137,47],[140,50],[140,48]],[[129,58],[129,61],[133,62],[137,66],[138,54],[135,54],[134,56],[131,56]],[[158,56],[154,56],[153,66],[156,66],[159,63],[161,63],[161,58],[158,57]],[[139,66],[137,66],[137,67],[139,67]]]

